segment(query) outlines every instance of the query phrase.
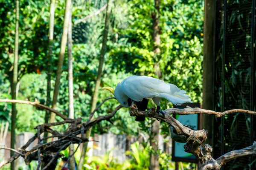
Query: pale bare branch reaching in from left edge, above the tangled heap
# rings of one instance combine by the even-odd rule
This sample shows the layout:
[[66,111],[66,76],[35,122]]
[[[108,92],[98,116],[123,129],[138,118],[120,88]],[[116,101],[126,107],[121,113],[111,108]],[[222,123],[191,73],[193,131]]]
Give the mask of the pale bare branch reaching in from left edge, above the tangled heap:
[[60,116],[62,119],[66,120],[68,119],[66,116],[64,116],[63,114],[61,114],[60,112],[49,108],[48,106],[45,105],[41,105],[38,103],[37,100],[35,100],[35,102],[30,102],[30,101],[24,101],[24,100],[11,100],[11,99],[0,99],[0,102],[11,102],[11,103],[21,103],[21,104],[29,104],[29,105],[33,105],[37,108],[41,108],[47,111],[51,111],[52,113],[55,113],[56,115]]

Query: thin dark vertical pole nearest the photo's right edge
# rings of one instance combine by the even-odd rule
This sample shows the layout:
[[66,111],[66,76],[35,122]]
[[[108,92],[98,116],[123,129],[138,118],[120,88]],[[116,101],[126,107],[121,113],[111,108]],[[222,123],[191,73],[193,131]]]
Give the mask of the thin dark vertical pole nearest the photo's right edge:
[[[251,27],[251,86],[250,86],[250,110],[255,110],[255,56],[254,56],[254,45],[255,45],[255,1],[252,1],[252,27]],[[250,115],[250,143],[253,144],[254,141],[254,126],[253,125],[253,118],[255,116]],[[253,156],[250,157],[250,162],[253,161]],[[252,167],[252,169],[254,169]]]

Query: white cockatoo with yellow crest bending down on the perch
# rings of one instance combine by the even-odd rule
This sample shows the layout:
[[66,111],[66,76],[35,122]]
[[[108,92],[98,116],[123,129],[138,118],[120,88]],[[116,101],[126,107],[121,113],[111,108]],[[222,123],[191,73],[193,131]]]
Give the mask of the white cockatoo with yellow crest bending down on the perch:
[[[147,107],[145,105],[148,104],[148,99],[152,99],[157,105],[158,112],[160,111],[162,98],[169,100],[174,105],[192,102],[186,91],[180,90],[176,85],[147,76],[131,76],[118,83],[115,89],[111,87],[103,87],[103,89],[111,91],[118,102],[125,108],[131,106],[131,100],[135,101],[136,104],[143,103],[141,107],[144,110]],[[138,110],[142,111],[139,107]]]

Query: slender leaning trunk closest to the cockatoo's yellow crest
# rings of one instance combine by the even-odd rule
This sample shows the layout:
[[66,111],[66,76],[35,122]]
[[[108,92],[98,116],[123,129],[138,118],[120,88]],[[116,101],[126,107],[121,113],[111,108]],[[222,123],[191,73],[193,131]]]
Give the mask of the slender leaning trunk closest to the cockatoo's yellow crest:
[[[98,95],[99,95],[99,85],[101,82],[102,67],[103,67],[103,63],[104,63],[104,56],[106,53],[106,46],[107,46],[107,40],[108,40],[108,28],[109,28],[110,14],[111,14],[111,6],[112,6],[112,0],[109,0],[108,6],[107,6],[106,18],[105,18],[105,29],[103,32],[102,50],[101,50],[100,57],[99,57],[98,74],[97,74],[97,78],[96,78],[96,85],[95,85],[95,89],[94,89],[94,93],[93,93],[93,101],[92,101],[90,113],[93,112],[93,110],[96,108]],[[90,130],[88,130],[86,132],[86,138],[90,137],[91,130],[92,129],[90,128]],[[87,150],[87,144],[88,144],[87,142],[83,144],[83,150],[81,153],[78,170],[82,169],[84,157],[85,157],[86,150]]]

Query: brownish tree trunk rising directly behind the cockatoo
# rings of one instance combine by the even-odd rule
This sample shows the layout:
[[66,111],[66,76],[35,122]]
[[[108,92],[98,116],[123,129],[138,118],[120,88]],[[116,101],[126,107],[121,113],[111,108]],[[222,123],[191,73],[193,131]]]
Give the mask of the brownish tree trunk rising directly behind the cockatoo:
[[[153,22],[153,40],[154,40],[154,54],[157,56],[160,54],[160,28],[159,28],[159,15],[160,15],[160,0],[155,0],[154,7],[156,13],[152,13],[152,22]],[[161,72],[158,64],[154,65],[155,74],[158,78],[161,77]],[[153,149],[153,152],[150,155],[150,170],[159,170],[159,161],[158,161],[158,140],[159,140],[159,130],[160,130],[160,121],[154,120],[152,125],[152,134],[153,138],[150,140],[150,145]]]

